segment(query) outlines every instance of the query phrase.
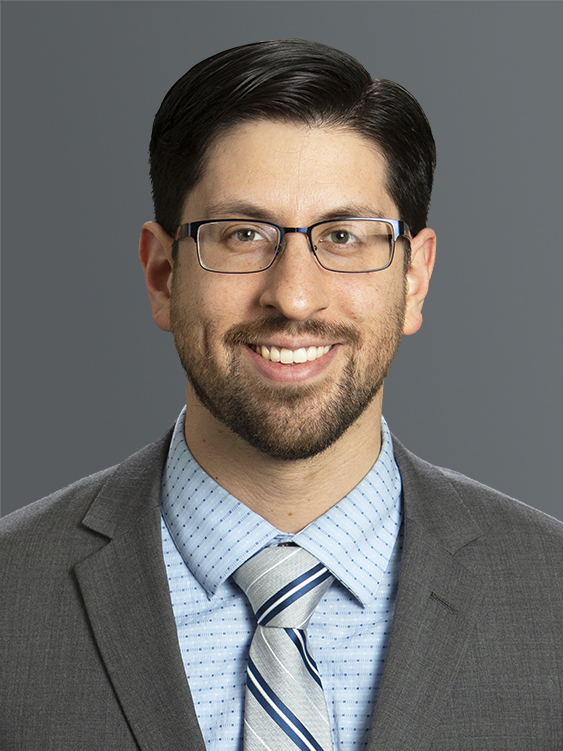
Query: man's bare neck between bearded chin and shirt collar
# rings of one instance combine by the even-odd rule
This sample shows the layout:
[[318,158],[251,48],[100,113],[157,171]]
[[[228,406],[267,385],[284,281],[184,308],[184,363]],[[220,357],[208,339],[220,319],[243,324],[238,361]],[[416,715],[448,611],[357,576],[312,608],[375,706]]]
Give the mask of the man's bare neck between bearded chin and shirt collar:
[[322,516],[373,467],[381,448],[382,391],[326,451],[310,459],[273,459],[246,443],[187,395],[185,436],[198,464],[231,495],[282,532]]

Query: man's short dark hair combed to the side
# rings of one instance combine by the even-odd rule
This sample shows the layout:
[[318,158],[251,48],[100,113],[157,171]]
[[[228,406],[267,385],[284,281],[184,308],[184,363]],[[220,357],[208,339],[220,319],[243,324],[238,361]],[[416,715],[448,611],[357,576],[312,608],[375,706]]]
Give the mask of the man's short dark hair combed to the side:
[[387,160],[387,191],[400,218],[413,235],[426,225],[436,148],[416,99],[392,81],[372,80],[344,52],[290,39],[213,55],[164,97],[154,119],[150,168],[155,220],[170,235],[202,177],[211,142],[260,119],[345,126],[372,140]]

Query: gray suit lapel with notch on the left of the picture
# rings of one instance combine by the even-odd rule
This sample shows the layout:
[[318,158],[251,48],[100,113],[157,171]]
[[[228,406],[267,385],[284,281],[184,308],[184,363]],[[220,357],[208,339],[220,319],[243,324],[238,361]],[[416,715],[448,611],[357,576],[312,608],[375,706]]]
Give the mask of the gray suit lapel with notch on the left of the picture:
[[205,751],[186,681],[160,538],[170,436],[123,465],[84,524],[109,538],[76,566],[94,638],[143,751]]

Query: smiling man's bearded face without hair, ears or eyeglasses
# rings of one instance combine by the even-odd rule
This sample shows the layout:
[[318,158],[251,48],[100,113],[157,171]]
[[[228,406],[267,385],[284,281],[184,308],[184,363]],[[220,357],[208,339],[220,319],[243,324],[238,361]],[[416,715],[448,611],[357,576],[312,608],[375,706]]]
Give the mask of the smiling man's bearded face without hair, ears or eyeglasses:
[[[220,137],[206,165],[182,222],[399,218],[383,157],[349,130],[248,123]],[[269,456],[313,456],[369,409],[404,319],[400,242],[388,269],[367,274],[321,268],[300,234],[286,235],[271,268],[241,275],[205,271],[193,240],[179,244],[170,327],[188,379],[215,418]]]

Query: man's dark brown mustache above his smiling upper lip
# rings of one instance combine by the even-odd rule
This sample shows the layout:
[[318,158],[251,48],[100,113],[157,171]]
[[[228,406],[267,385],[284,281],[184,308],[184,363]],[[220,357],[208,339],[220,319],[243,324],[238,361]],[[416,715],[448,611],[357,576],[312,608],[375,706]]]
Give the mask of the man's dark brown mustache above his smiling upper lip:
[[281,316],[271,316],[260,321],[231,326],[225,334],[225,343],[231,346],[259,344],[264,337],[272,334],[289,334],[295,337],[309,334],[333,342],[357,346],[361,343],[360,333],[352,326],[315,320],[290,321]]

